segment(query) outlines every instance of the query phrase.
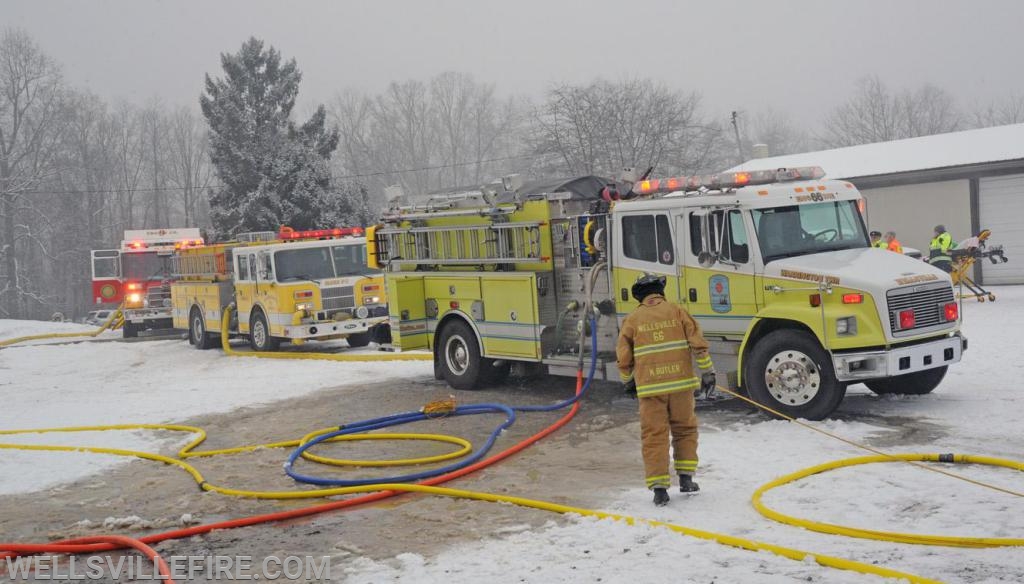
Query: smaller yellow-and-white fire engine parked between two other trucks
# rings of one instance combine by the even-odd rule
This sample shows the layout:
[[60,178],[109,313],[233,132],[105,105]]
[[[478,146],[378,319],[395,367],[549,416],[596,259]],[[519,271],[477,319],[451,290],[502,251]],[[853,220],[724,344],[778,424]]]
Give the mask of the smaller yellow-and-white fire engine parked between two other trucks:
[[[172,262],[174,325],[201,349],[219,345],[222,334],[247,337],[256,350],[274,350],[282,341],[344,338],[353,347],[387,341],[384,282],[367,266],[362,235],[360,227],[284,227],[182,249]],[[231,304],[234,317],[222,331]]]

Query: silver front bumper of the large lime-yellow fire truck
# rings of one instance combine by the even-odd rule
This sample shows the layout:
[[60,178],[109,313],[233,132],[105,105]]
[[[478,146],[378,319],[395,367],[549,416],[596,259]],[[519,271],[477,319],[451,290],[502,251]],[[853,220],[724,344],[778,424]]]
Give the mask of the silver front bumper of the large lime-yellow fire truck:
[[939,340],[888,350],[833,354],[839,381],[864,381],[895,377],[959,363],[967,338],[959,333]]

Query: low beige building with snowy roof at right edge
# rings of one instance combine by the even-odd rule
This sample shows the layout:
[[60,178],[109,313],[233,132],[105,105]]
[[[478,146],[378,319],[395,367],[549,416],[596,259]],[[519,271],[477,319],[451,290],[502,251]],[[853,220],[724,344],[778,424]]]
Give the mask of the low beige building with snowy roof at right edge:
[[932,228],[954,241],[992,231],[1008,263],[979,261],[976,280],[1024,284],[1024,124],[751,160],[735,170],[820,166],[867,200],[872,230],[928,253]]

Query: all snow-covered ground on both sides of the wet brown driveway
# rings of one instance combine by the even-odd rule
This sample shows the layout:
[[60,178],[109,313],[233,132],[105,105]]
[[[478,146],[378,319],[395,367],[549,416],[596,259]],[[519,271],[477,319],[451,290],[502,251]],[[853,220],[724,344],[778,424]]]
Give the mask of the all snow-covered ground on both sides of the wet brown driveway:
[[[888,452],[954,452],[1024,459],[1024,287],[994,290],[995,303],[964,303],[970,348],[934,393],[879,398],[850,388],[838,419],[820,426]],[[25,334],[25,333],[20,333]],[[0,338],[9,336],[0,329]],[[189,367],[182,368],[187,361]],[[240,362],[245,367],[240,367]],[[180,421],[189,416],[287,399],[327,385],[386,376],[429,375],[429,363],[323,363],[296,377],[273,376],[281,364],[196,351],[180,341],[82,343],[0,350],[0,426],[42,427]],[[273,376],[274,383],[265,381]],[[130,404],[129,408],[124,405]],[[735,420],[735,418],[718,418]],[[705,418],[701,493],[673,495],[655,508],[624,476],[609,488],[605,510],[660,519],[945,581],[1024,582],[1020,548],[926,547],[816,534],[770,522],[750,504],[754,490],[784,473],[863,452],[806,428],[752,417]],[[0,442],[14,442],[0,436]],[[152,436],[79,436],[90,445],[155,450]],[[61,442],[28,435],[22,442]],[[67,439],[62,439],[63,442]],[[639,456],[639,444],[635,445]],[[544,448],[540,446],[539,448]],[[117,461],[106,457],[0,451],[0,493],[37,490]],[[26,469],[31,469],[27,471]],[[1024,474],[992,467],[951,470],[1024,491]],[[57,472],[58,471],[58,472]],[[587,485],[581,488],[593,489]],[[1024,501],[905,464],[858,466],[816,475],[765,497],[802,517],[878,530],[1024,537]],[[508,530],[433,557],[402,554],[345,568],[351,582],[866,582],[876,580],[814,562],[797,562],[679,536],[664,529],[578,519]]]

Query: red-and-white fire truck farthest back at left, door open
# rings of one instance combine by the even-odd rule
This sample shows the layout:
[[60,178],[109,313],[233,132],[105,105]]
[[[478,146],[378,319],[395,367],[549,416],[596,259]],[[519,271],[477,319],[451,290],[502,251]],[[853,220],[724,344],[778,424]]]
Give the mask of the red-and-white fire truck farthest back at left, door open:
[[175,250],[203,245],[198,228],[129,230],[121,249],[92,251],[92,299],[124,306],[124,337],[139,331],[170,329],[171,256]]

